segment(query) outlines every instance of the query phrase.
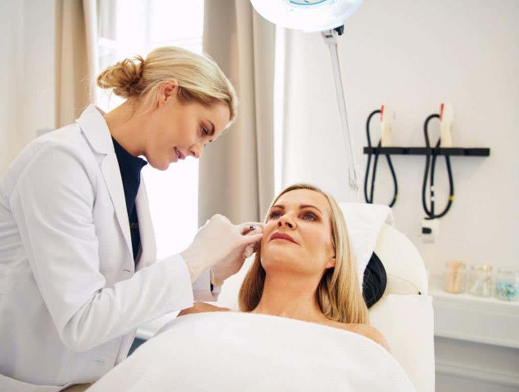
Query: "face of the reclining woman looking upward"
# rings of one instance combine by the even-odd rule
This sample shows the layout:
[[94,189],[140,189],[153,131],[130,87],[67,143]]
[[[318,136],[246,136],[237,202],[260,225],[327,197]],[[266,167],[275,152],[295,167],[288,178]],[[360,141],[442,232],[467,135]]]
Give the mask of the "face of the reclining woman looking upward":
[[[335,265],[331,230],[331,210],[326,197],[316,191],[297,189],[286,192],[267,214],[261,241],[265,271],[292,271],[321,277]],[[273,239],[289,235],[293,241]]]

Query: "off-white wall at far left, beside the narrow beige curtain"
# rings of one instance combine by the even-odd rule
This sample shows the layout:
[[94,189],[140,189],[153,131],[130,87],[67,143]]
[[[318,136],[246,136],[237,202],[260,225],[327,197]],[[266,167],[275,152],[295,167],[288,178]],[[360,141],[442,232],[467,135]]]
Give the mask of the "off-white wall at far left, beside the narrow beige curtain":
[[37,129],[54,128],[56,0],[0,2],[0,173]]

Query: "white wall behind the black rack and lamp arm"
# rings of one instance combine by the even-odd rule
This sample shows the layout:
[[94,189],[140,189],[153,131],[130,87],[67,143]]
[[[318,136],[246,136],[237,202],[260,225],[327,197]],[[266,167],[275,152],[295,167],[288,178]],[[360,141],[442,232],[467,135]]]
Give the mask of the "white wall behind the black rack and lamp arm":
[[[365,0],[339,38],[350,129],[364,181],[365,121],[385,103],[397,118],[393,143],[423,146],[423,124],[440,103],[454,105],[456,146],[490,147],[490,157],[451,159],[455,201],[434,244],[419,237],[424,212],[425,157],[393,156],[399,200],[396,226],[418,247],[432,276],[452,258],[518,268],[519,2]],[[309,181],[348,200],[347,171],[330,55],[318,33],[286,32],[283,185]],[[378,116],[372,141],[378,141]],[[438,123],[431,121],[435,142]],[[436,211],[448,197],[444,160],[436,170]],[[389,203],[393,186],[379,160],[375,202]],[[362,201],[364,200],[362,195]]]

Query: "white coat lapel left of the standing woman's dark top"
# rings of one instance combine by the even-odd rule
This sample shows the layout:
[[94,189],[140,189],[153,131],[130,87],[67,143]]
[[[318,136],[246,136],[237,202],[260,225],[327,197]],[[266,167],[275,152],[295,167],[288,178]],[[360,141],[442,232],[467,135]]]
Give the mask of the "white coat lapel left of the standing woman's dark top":
[[[121,229],[122,235],[126,241],[129,260],[133,261],[133,251],[131,246],[130,222],[128,220],[128,212],[126,211],[126,199],[124,189],[122,188],[122,178],[119,171],[117,156],[115,155],[114,143],[108,125],[103,118],[103,111],[89,105],[81,116],[76,120],[81,131],[83,131],[87,141],[95,152],[105,155],[101,161],[101,172],[103,173],[110,199],[114,205],[117,222]],[[133,271],[134,264],[131,263]]]

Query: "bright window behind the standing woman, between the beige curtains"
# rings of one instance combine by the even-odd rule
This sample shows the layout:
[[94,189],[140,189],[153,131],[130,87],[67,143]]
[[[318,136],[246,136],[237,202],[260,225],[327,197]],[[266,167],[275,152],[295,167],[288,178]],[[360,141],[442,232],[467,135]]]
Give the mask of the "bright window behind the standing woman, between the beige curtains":
[[[202,51],[203,0],[98,0],[99,69],[161,46]],[[124,100],[106,90],[97,105],[109,111]],[[157,258],[180,253],[198,227],[198,160],[188,157],[167,171],[142,172],[157,240]]]

